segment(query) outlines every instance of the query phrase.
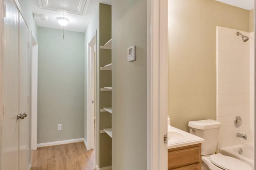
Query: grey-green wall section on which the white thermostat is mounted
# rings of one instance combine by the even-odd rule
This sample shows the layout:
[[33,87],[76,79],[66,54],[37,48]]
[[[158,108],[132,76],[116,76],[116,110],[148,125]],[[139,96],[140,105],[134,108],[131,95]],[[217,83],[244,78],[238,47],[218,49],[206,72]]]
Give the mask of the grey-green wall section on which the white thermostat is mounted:
[[112,1],[112,87],[112,169],[146,170],[147,0]]

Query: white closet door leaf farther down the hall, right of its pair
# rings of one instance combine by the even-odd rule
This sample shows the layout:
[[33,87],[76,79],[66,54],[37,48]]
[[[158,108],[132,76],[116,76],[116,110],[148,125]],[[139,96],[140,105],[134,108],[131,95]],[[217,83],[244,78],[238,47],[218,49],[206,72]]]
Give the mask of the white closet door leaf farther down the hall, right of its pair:
[[19,33],[19,113],[27,117],[19,121],[19,170],[28,170],[29,113],[28,113],[28,26],[20,15]]

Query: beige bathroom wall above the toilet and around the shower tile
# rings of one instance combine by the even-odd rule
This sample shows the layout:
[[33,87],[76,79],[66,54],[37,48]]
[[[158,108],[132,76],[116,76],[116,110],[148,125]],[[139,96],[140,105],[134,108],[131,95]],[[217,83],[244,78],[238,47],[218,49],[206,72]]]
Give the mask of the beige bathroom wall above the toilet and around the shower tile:
[[169,0],[171,125],[216,119],[216,26],[249,31],[249,11],[215,0]]

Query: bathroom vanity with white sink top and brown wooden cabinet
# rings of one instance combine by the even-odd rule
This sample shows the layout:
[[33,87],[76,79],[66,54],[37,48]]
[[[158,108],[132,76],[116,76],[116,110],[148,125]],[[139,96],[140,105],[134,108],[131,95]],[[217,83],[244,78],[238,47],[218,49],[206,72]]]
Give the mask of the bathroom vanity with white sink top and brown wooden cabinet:
[[168,127],[168,170],[201,170],[201,143],[204,139]]

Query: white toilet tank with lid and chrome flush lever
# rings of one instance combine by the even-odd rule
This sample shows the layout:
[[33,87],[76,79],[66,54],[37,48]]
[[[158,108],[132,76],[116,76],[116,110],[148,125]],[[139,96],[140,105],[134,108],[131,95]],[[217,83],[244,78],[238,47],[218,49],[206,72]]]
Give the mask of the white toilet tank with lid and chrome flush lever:
[[202,155],[216,152],[220,122],[215,120],[199,120],[188,122],[190,133],[204,139],[202,143]]

